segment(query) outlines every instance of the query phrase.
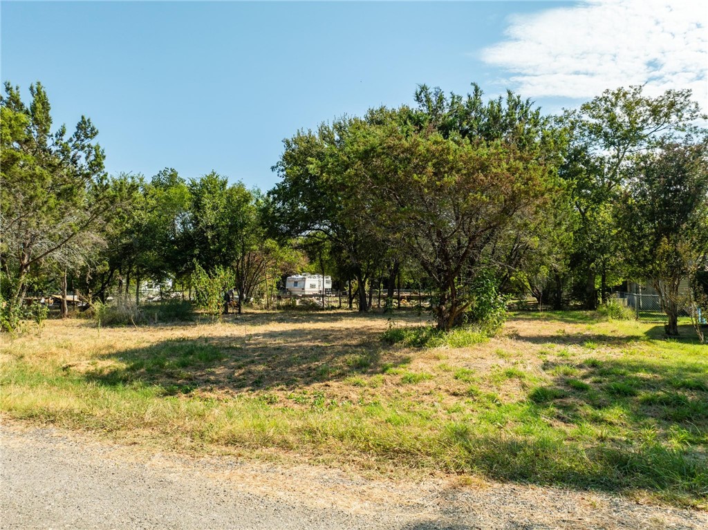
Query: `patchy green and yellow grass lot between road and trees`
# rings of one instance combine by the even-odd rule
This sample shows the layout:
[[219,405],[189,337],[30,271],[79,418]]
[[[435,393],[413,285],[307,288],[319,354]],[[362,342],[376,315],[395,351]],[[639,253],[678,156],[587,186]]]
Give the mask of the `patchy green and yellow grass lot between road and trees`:
[[2,338],[0,411],[178,451],[708,507],[708,346],[689,326],[664,340],[659,321],[515,313],[497,338],[422,348],[382,340],[380,315],[228,318]]

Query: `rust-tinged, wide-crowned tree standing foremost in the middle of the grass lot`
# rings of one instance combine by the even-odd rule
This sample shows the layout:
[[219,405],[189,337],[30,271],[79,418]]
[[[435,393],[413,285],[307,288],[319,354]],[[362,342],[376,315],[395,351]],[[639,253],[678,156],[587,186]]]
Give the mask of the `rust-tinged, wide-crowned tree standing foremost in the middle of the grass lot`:
[[432,280],[438,328],[459,326],[494,244],[544,205],[552,168],[513,144],[437,133],[389,133],[374,163],[370,211]]

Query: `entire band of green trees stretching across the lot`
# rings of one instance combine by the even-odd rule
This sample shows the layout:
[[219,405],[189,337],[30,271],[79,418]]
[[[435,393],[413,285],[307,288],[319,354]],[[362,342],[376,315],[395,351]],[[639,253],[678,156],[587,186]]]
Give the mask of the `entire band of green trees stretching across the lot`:
[[595,309],[626,280],[657,290],[672,335],[679,305],[708,306],[678,288],[708,270],[708,135],[687,90],[619,88],[553,116],[420,86],[413,106],[285,139],[265,193],[214,172],[107,175],[91,120],[52,130],[42,84],[30,94],[1,98],[4,328],[28,291],[103,301],[145,280],[190,289],[195,272],[242,303],[282,275],[332,275],[359,311],[381,284],[389,302],[425,287],[442,330],[498,325],[510,294]]

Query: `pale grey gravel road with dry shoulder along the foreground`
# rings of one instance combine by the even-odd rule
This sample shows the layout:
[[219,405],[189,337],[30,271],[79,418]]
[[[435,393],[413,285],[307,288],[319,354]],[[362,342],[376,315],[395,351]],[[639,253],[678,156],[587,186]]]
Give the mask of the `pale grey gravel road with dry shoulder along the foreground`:
[[2,529],[707,529],[595,492],[192,458],[0,423]]

